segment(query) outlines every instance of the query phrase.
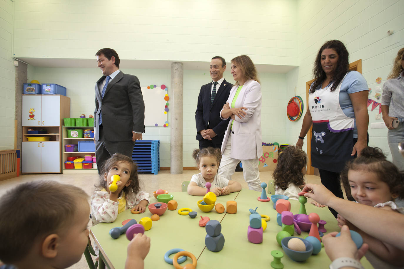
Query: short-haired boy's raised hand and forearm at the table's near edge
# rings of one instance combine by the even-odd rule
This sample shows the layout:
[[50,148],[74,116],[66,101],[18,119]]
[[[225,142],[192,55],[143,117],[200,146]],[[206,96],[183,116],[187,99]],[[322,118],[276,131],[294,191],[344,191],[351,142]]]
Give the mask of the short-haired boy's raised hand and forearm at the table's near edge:
[[136,234],[128,244],[128,256],[125,269],[143,269],[145,258],[150,250],[150,238],[145,234]]

